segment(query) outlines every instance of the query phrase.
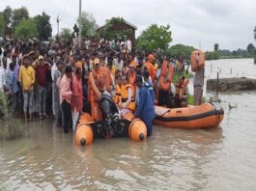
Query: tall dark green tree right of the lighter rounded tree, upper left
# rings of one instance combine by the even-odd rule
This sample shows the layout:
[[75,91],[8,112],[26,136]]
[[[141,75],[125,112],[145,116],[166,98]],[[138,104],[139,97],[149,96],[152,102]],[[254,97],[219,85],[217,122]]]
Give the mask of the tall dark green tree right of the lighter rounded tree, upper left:
[[34,17],[39,32],[39,39],[41,41],[48,41],[51,37],[52,28],[50,24],[50,16],[45,14],[38,14]]

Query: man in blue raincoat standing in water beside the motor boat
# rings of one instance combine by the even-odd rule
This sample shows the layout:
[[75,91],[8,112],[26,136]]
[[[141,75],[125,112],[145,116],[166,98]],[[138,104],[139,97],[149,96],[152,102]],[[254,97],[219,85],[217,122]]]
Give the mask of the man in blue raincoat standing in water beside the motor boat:
[[152,135],[152,122],[156,117],[154,102],[148,88],[142,84],[142,76],[136,76],[136,85],[139,91],[139,98],[137,101],[137,109],[134,116],[140,118],[147,125],[148,136]]

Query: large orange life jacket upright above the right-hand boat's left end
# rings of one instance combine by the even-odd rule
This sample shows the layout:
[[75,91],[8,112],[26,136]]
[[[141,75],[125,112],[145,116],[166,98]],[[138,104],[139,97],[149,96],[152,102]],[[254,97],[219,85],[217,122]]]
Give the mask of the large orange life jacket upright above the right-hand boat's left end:
[[[168,70],[167,70],[168,69]],[[165,92],[169,91],[172,84],[173,68],[164,61],[161,66],[161,74],[159,77],[159,88]]]

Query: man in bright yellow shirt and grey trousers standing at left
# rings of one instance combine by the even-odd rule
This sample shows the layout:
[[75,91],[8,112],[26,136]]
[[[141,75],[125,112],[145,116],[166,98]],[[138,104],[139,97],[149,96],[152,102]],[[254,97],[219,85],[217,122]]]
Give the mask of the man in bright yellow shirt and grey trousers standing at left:
[[29,109],[30,121],[32,121],[33,112],[33,89],[35,83],[35,69],[29,66],[29,59],[24,58],[23,65],[19,69],[18,80],[22,86],[23,99],[24,99],[24,115],[25,121],[27,121],[27,110]]

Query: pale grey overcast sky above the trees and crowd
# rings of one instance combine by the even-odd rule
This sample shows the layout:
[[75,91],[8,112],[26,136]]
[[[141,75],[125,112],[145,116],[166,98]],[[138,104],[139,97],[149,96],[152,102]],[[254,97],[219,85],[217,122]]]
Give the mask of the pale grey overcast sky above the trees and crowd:
[[[7,5],[25,6],[31,16],[44,11],[51,16],[53,34],[56,17],[60,28],[72,28],[78,15],[78,0],[0,0]],[[204,50],[219,43],[221,49],[246,48],[256,26],[256,0],[82,0],[82,10],[94,15],[99,25],[112,16],[123,16],[137,26],[136,36],[149,25],[170,24],[172,43],[184,43]]]

